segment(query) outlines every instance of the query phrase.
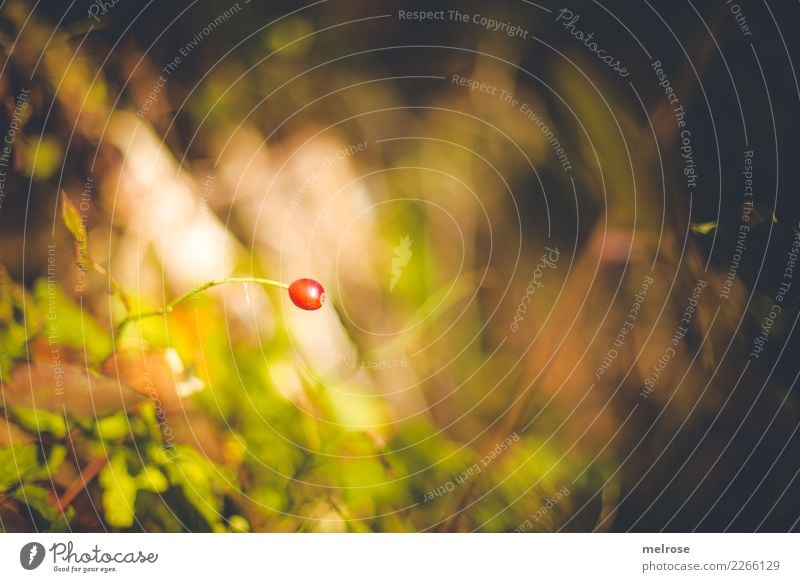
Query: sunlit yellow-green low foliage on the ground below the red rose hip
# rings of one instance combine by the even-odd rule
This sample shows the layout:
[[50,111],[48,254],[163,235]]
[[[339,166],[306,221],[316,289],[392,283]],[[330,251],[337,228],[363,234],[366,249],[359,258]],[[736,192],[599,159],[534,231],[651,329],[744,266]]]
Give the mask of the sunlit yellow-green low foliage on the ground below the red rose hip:
[[[25,303],[21,320],[43,319],[48,298],[53,297],[46,287],[46,281],[37,282],[36,299]],[[6,278],[4,292],[8,311],[23,291]],[[63,350],[83,352],[92,361],[108,356],[112,338],[102,327],[63,292],[55,298]],[[452,482],[476,463],[476,453],[449,442],[422,421],[380,443],[367,431],[337,422],[348,416],[368,421],[369,409],[357,407],[335,387],[311,378],[295,379],[317,420],[310,418],[287,400],[268,372],[291,361],[288,341],[279,334],[272,344],[262,346],[269,354],[270,365],[265,367],[261,349],[229,344],[212,302],[199,304],[195,308],[202,316],[207,369],[198,372],[208,387],[193,396],[197,407],[191,410],[185,403],[160,420],[151,398],[132,409],[87,417],[82,403],[71,399],[84,398],[82,393],[67,394],[60,409],[47,403],[28,409],[11,404],[18,386],[14,379],[5,380],[9,430],[29,435],[25,444],[0,448],[0,515],[5,527],[16,529],[11,524],[17,517],[42,531],[413,531],[427,525],[430,513],[444,518],[453,500],[464,493],[456,490],[425,500],[426,492]],[[172,349],[191,354],[197,346],[182,333],[181,315],[178,310],[161,331],[170,337]],[[18,324],[4,325],[9,330]],[[143,322],[142,327],[147,325]],[[19,332],[27,343],[6,340],[4,370],[44,340],[43,329]],[[159,349],[159,335],[148,341],[153,349]],[[85,373],[102,374],[102,366]],[[41,393],[54,390],[51,384]],[[163,405],[163,396],[158,404]],[[200,414],[210,421],[206,434],[194,434],[192,444],[166,440],[171,422],[176,432],[183,422],[190,429],[205,428],[192,423]],[[536,452],[531,455],[532,450]],[[543,498],[562,487],[569,479],[561,462],[565,454],[547,442],[523,437],[496,461],[491,479],[480,480],[473,495],[482,492],[486,499],[469,523],[485,523],[492,531],[516,527],[515,520],[524,515],[508,507],[527,495],[525,507],[531,513],[536,510],[532,499],[539,497],[531,497],[531,483]],[[585,478],[588,484],[599,476]]]

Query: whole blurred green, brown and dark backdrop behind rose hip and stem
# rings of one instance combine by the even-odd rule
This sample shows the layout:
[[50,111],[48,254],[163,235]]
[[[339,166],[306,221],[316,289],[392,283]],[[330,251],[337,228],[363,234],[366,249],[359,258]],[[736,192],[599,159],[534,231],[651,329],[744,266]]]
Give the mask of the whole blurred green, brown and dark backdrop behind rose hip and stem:
[[[800,14],[736,6],[4,2],[0,529],[797,530]],[[327,301],[120,326],[227,277]]]

